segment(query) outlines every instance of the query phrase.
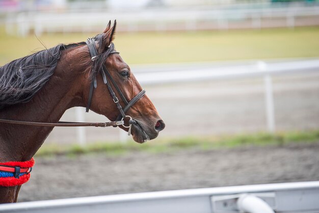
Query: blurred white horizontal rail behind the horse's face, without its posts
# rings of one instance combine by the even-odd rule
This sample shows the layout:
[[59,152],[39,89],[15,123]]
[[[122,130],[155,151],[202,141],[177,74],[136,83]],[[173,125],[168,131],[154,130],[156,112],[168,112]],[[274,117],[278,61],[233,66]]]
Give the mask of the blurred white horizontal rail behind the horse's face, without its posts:
[[319,59],[242,61],[224,63],[154,64],[132,66],[141,85],[258,77],[291,72],[319,71]]

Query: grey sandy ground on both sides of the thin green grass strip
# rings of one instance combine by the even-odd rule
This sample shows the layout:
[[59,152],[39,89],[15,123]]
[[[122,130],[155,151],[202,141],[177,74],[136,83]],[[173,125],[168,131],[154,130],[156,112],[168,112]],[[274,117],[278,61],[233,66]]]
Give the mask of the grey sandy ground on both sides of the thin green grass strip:
[[[317,72],[273,78],[276,130],[319,128],[318,82]],[[145,89],[166,122],[160,139],[267,129],[261,78]],[[74,120],[72,110],[62,120]],[[86,115],[89,122],[104,120],[94,113]],[[88,143],[116,141],[121,136],[115,128],[90,128],[86,133]],[[55,128],[45,143],[74,142],[75,128]],[[37,157],[31,180],[23,185],[19,201],[319,180],[318,153],[319,141],[158,154]]]

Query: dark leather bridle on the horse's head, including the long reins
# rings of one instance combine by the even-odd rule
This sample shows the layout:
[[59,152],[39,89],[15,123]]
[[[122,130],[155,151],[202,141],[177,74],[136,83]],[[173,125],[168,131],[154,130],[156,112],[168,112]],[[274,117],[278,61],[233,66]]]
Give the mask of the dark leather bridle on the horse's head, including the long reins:
[[[90,91],[89,91],[89,98],[88,98],[88,103],[86,107],[86,112],[89,112],[90,105],[92,102],[92,96],[93,96],[93,90],[94,88],[97,88],[97,81],[96,81],[96,75],[99,70],[95,69],[95,61],[99,57],[98,51],[96,48],[95,40],[94,38],[88,38],[86,41],[86,44],[89,47],[90,55],[91,55],[91,60],[93,62],[92,64],[92,72],[93,72],[93,78],[92,82],[90,85]],[[109,48],[113,45],[112,43],[110,44]],[[112,55],[112,54],[119,54],[117,51],[111,51],[108,55],[107,58]],[[107,127],[107,126],[123,126],[125,128],[128,128],[128,135],[130,135],[130,130],[131,130],[131,125],[135,124],[136,121],[133,120],[130,116],[125,115],[127,110],[132,107],[139,99],[141,99],[145,95],[145,90],[142,90],[137,94],[134,98],[132,98],[130,101],[127,101],[125,96],[123,95],[122,91],[120,90],[119,86],[117,83],[114,81],[113,77],[111,76],[109,70],[107,67],[103,64],[101,69],[100,69],[103,82],[108,86],[108,90],[113,98],[114,103],[116,104],[117,109],[119,110],[120,114],[116,118],[115,121],[111,122],[102,122],[102,123],[84,123],[84,122],[65,122],[65,121],[59,121],[58,123],[42,123],[42,122],[31,122],[31,121],[16,121],[16,120],[7,120],[7,119],[0,119],[0,123],[12,123],[12,124],[22,124],[22,125],[33,125],[33,126],[96,126],[96,127]],[[114,90],[112,89],[112,86],[110,84],[111,80],[113,86],[117,90],[118,94],[120,95],[121,99],[123,100],[125,107],[122,108],[121,104],[119,103],[119,99],[116,96]]]

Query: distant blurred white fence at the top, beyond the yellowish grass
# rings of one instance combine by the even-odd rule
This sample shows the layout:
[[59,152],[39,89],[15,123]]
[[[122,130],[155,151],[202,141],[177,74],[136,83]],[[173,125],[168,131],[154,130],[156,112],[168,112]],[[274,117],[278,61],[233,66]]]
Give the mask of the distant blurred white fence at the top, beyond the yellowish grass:
[[117,31],[196,31],[319,25],[319,6],[257,8],[148,8],[127,11],[45,11],[8,14],[8,34],[100,32],[117,19]]

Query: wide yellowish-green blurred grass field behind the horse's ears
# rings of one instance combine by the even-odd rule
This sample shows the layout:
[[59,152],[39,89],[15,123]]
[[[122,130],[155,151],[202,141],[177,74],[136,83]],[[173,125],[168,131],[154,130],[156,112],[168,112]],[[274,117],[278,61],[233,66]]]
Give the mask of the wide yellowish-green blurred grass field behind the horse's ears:
[[[52,47],[95,34],[45,34]],[[319,57],[319,27],[205,32],[118,33],[116,49],[128,64]],[[34,35],[19,38],[0,28],[0,65],[43,49]]]

